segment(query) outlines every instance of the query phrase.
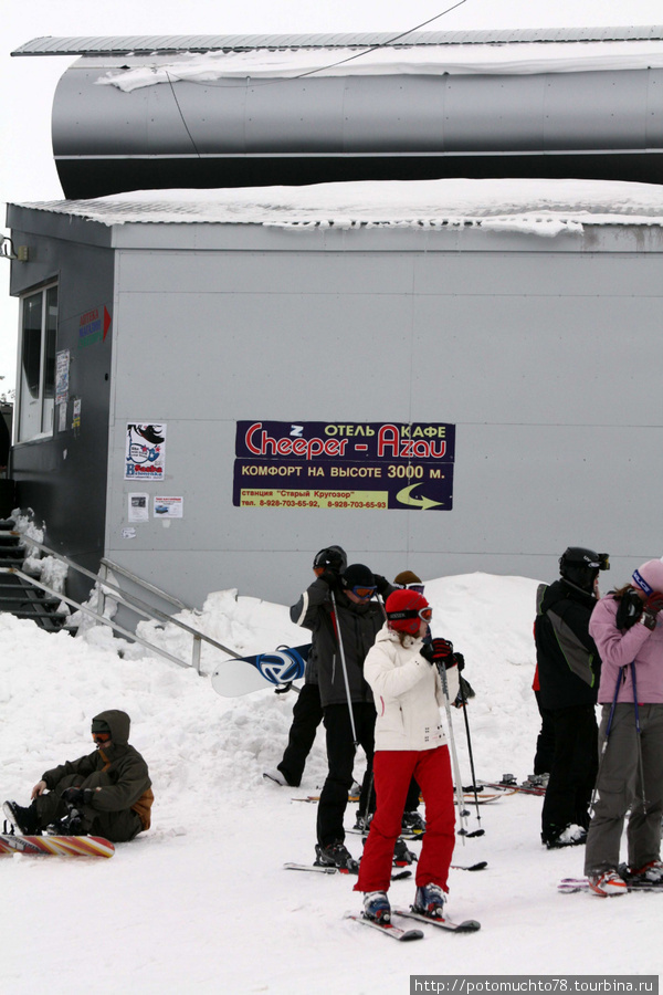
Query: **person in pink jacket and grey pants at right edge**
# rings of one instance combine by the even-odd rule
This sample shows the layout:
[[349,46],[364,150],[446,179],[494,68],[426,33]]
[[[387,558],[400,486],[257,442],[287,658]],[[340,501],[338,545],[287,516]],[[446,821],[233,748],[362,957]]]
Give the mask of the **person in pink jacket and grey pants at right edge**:
[[663,881],[663,562],[650,559],[632,582],[602,598],[589,632],[602,659],[599,741],[603,744],[585,872],[600,896],[623,894],[618,872],[629,817],[627,879]]

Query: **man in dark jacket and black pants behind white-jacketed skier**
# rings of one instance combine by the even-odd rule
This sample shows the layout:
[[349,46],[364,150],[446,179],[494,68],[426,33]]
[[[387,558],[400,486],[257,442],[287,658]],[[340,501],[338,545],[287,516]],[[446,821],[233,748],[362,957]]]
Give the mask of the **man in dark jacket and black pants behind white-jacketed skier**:
[[385,620],[377,600],[393,590],[369,567],[350,564],[340,576],[324,570],[291,609],[292,620],[313,632],[329,771],[317,813],[316,863],[356,873],[345,847],[344,815],[352,784],[357,744],[367,760],[359,811],[369,808],[376,709],[364,679],[364,660]]

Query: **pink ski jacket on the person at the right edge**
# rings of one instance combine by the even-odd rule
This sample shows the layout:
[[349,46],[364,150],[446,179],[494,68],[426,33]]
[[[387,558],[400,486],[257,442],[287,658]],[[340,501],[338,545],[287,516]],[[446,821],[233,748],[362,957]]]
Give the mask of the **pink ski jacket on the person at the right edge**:
[[599,702],[612,703],[619,671],[624,664],[625,680],[620,681],[617,700],[633,701],[632,668],[628,664],[634,662],[638,703],[663,704],[663,619],[659,616],[653,630],[638,621],[622,631],[615,625],[619,601],[607,595],[594,608],[589,622],[590,636],[603,661]]

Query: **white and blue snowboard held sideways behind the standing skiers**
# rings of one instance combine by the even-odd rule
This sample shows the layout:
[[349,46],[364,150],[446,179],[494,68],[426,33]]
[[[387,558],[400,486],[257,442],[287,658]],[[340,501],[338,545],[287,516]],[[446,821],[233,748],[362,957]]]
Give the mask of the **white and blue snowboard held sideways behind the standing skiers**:
[[304,677],[309,651],[308,642],[306,646],[282,646],[273,653],[224,660],[212,673],[212,688],[222,698],[264,691],[270,684],[283,688]]

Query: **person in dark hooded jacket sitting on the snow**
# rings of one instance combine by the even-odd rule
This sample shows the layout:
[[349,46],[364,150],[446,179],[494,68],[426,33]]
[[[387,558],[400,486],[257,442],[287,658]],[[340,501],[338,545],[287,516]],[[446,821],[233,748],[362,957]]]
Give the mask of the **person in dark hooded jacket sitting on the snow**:
[[3,810],[25,836],[53,826],[63,836],[103,836],[125,842],[149,829],[154,802],[147,764],[129,745],[130,719],[109,710],[92,720],[96,750],[42,775],[32,802],[6,802]]

